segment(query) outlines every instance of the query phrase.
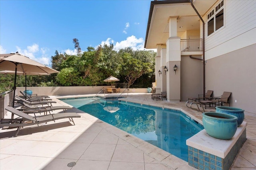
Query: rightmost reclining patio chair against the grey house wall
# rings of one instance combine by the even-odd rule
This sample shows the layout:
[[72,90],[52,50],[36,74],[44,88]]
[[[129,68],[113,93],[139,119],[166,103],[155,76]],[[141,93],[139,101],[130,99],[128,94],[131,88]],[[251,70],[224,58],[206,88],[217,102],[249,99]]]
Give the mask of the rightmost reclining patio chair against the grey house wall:
[[209,105],[209,107],[211,107],[211,105],[213,106],[213,104],[215,106],[223,106],[224,103],[228,103],[230,106],[230,96],[231,96],[231,92],[223,92],[223,94],[221,96],[218,97],[213,97],[212,99],[209,100],[201,100],[200,103],[202,105]]

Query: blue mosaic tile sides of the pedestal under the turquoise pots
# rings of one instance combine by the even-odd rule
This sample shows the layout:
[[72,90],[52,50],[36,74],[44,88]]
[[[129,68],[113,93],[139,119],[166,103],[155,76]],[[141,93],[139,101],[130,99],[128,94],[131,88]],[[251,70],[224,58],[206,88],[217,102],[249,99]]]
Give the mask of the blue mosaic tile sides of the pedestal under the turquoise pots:
[[238,138],[225,158],[188,146],[188,164],[199,170],[229,170],[236,155],[246,141],[246,130]]

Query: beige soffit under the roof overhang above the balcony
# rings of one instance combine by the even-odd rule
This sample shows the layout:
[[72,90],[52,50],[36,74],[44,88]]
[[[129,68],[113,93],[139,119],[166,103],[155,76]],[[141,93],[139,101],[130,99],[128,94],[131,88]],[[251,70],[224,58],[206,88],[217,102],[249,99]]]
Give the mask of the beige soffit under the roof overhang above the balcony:
[[[154,2],[151,2],[154,8],[150,11],[151,20],[150,18],[148,20],[150,23],[148,23],[145,40],[146,49],[155,49],[157,44],[166,44],[169,37],[168,20],[170,17],[177,17],[178,32],[200,29],[200,18],[190,3],[154,4]],[[200,16],[203,16],[215,2],[216,0],[196,0],[193,4]],[[158,1],[158,3],[161,2]]]

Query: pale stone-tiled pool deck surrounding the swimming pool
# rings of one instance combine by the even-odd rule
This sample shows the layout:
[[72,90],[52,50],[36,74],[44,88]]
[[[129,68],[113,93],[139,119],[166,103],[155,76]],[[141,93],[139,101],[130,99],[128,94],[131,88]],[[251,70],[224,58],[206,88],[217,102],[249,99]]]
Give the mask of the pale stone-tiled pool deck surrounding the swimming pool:
[[[57,102],[54,106],[59,106],[67,104],[55,98],[84,96],[94,95],[52,96],[52,98]],[[156,101],[151,99],[150,94],[132,93],[122,100],[156,104],[160,107],[181,108],[199,122],[202,120],[202,113],[189,109],[185,102]],[[81,115],[81,118],[74,118],[76,125],[73,126],[68,119],[62,119],[56,123],[40,125],[40,127],[21,129],[18,137],[12,137],[16,129],[0,129],[0,169],[194,169],[188,165],[188,162],[76,108],[68,112]],[[10,113],[6,115],[8,116]],[[247,140],[238,153],[231,170],[256,170],[256,116],[245,113],[244,121],[248,123]],[[68,167],[70,162],[76,162],[76,165]]]

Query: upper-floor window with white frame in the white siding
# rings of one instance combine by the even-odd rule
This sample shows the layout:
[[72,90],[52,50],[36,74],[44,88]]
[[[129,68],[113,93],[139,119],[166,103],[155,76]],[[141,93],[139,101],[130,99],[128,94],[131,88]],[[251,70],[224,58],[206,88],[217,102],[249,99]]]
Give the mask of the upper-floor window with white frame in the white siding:
[[207,15],[207,35],[211,35],[224,25],[224,1],[222,0],[208,15]]

